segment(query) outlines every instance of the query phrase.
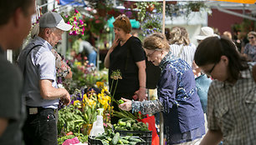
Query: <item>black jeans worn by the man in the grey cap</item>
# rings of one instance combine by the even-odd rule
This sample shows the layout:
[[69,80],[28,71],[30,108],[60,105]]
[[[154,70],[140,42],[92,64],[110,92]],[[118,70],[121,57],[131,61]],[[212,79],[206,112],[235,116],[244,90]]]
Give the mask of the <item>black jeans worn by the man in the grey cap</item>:
[[54,109],[38,107],[37,114],[29,114],[23,126],[26,145],[57,145],[57,124]]

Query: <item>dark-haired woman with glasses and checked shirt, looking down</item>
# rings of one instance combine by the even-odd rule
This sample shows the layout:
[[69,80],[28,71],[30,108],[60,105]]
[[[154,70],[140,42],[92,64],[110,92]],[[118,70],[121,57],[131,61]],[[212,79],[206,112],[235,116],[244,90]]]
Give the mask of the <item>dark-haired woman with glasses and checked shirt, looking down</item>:
[[207,37],[195,62],[213,81],[207,95],[208,132],[202,145],[256,144],[256,83],[252,65],[225,37]]

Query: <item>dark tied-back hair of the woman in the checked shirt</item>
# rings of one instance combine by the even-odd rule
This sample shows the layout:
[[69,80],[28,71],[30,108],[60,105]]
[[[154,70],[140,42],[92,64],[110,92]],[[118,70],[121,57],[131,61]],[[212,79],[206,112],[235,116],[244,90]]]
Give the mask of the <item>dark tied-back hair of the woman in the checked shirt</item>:
[[195,62],[201,67],[218,63],[222,56],[228,57],[228,69],[231,77],[238,80],[240,71],[248,69],[246,57],[238,51],[236,45],[226,37],[207,37],[199,43],[195,52]]

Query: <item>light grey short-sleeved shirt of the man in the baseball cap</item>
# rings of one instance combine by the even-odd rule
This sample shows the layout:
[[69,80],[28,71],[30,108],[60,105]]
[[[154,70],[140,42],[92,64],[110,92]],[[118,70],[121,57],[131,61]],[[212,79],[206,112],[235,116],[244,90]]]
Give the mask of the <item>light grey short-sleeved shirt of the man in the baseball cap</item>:
[[[32,47],[32,51],[29,52]],[[18,65],[22,72],[25,69],[22,97],[25,97],[27,106],[58,107],[59,99],[45,100],[41,97],[39,88],[39,80],[41,79],[51,80],[52,86],[57,88],[55,57],[51,52],[52,48],[49,42],[42,37],[34,37],[19,55]]]

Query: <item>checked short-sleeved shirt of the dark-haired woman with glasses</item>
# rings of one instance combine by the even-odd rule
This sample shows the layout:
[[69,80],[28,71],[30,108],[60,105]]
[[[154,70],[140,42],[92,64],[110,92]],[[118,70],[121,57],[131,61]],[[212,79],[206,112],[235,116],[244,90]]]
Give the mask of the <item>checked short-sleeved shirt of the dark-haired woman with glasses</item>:
[[235,84],[212,81],[207,121],[210,130],[221,130],[223,145],[256,144],[256,83],[249,69]]

